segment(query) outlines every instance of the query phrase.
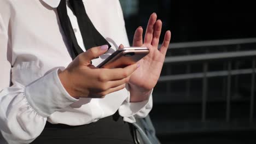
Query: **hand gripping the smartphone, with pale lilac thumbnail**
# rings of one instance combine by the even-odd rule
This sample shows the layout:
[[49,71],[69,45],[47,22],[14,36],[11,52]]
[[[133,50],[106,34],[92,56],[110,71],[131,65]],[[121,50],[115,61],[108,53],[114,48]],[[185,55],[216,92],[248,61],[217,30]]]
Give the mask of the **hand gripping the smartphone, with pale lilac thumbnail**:
[[90,62],[108,50],[107,45],[93,47],[80,53],[68,67],[59,71],[60,81],[72,97],[104,98],[105,95],[125,88],[137,64],[125,68],[96,68]]

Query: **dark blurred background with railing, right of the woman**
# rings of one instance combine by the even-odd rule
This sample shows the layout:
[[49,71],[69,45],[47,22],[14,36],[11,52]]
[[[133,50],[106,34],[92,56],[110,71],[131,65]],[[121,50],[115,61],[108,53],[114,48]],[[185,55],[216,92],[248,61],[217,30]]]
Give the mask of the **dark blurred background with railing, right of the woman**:
[[256,143],[254,2],[120,3],[130,43],[153,12],[172,32],[150,113],[161,143]]

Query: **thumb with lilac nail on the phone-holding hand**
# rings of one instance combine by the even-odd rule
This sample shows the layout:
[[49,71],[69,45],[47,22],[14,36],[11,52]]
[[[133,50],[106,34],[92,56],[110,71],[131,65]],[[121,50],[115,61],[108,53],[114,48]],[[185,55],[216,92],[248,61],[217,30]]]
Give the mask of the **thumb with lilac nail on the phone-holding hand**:
[[97,46],[97,47],[92,47],[91,49],[87,50],[82,54],[82,57],[84,61],[90,62],[92,59],[95,59],[103,53],[105,53],[108,50],[108,45],[102,45],[102,46]]

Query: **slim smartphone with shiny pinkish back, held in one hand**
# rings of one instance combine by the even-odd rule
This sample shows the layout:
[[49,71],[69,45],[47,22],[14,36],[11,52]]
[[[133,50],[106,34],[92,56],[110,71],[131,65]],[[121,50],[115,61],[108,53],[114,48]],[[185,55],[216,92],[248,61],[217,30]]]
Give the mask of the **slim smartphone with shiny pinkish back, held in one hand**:
[[97,68],[124,68],[127,65],[135,64],[148,53],[147,47],[124,47],[112,53]]

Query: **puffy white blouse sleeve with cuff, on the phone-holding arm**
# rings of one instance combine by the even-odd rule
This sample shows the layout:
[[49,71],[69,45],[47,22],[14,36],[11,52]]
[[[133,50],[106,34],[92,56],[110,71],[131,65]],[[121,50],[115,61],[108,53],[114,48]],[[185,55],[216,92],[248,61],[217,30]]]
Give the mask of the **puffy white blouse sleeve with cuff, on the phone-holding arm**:
[[65,91],[57,69],[28,86],[11,86],[11,8],[0,2],[0,143],[30,143],[44,129],[51,113],[76,99]]

